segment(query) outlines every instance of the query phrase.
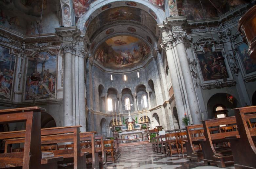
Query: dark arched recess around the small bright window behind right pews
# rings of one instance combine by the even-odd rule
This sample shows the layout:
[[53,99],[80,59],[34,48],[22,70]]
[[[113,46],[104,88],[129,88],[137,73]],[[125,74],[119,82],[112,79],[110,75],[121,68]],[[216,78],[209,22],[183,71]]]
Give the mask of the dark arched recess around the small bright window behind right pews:
[[237,101],[237,99],[233,96],[233,103],[228,101],[227,95],[230,96],[230,94],[227,93],[216,93],[213,96],[210,97],[210,99],[207,102],[207,111],[208,111],[208,118],[212,119],[214,118],[215,109],[218,106],[222,106],[226,108],[228,111],[228,116],[234,115],[233,108],[240,107],[240,103]]

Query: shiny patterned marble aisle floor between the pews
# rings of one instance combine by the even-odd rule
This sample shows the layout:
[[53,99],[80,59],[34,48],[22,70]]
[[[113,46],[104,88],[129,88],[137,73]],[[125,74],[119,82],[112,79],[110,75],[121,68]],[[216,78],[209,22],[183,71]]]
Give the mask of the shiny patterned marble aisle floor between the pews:
[[[216,166],[206,166],[203,162],[191,162],[186,155],[173,155],[167,157],[164,154],[154,152],[137,153],[120,156],[116,163],[107,162],[107,169],[218,169]],[[223,168],[222,168],[223,169]],[[226,169],[234,169],[233,166]]]

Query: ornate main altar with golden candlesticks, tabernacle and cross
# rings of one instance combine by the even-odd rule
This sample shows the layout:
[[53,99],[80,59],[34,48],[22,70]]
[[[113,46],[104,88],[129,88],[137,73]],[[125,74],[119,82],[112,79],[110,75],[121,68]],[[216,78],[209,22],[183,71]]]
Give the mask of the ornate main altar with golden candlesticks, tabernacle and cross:
[[[127,106],[127,105],[126,105]],[[132,106],[128,105],[128,106]],[[120,143],[130,143],[130,142],[137,142],[137,141],[145,141],[147,139],[147,130],[149,129],[149,120],[147,118],[147,111],[142,110],[138,111],[138,119],[135,116],[135,120],[131,118],[130,110],[128,115],[128,120],[125,121],[123,117],[123,123],[121,122],[121,116],[119,113],[119,122],[117,120],[117,113],[116,119],[112,120],[113,128],[113,135],[118,137]],[[141,115],[141,118],[140,118]]]

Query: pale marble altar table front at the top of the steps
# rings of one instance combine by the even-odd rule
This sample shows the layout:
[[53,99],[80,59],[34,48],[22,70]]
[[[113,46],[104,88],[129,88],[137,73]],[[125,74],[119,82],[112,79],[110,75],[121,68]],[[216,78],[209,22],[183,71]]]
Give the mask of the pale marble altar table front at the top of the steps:
[[121,143],[137,142],[144,141],[145,131],[126,131],[118,134],[119,140]]

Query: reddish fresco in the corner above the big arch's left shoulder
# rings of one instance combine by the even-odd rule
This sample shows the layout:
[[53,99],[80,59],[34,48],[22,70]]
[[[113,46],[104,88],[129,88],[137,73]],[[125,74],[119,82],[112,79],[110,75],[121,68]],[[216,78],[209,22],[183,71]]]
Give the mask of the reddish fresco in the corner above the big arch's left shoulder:
[[75,17],[81,17],[90,9],[90,4],[96,0],[73,0]]

